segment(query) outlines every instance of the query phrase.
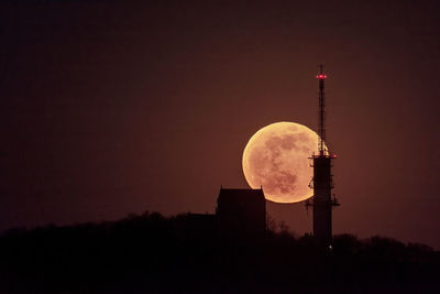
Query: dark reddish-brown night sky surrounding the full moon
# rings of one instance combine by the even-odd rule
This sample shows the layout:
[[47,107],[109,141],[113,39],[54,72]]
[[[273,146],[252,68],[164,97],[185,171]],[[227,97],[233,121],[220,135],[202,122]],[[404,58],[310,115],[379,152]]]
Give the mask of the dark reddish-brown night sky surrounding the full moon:
[[[1,1],[0,230],[212,213],[260,128],[317,129],[334,232],[440,248],[438,1]],[[301,204],[268,204],[301,235]]]

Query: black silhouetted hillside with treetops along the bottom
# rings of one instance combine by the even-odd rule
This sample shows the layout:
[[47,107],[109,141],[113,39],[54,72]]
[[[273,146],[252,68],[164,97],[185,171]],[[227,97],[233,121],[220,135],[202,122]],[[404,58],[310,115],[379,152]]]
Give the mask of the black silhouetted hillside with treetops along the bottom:
[[422,244],[342,235],[329,253],[310,237],[220,238],[211,225],[145,214],[11,230],[0,238],[0,292],[440,293],[440,253]]

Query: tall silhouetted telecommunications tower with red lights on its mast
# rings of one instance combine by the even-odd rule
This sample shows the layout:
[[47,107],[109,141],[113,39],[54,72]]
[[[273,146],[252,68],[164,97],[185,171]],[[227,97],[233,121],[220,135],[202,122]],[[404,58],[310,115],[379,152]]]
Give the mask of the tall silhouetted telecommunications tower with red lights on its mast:
[[322,72],[320,65],[320,73],[317,75],[319,80],[319,141],[318,154],[312,154],[314,161],[314,179],[311,187],[314,188],[314,198],[311,202],[306,202],[306,207],[314,206],[314,236],[319,243],[326,247],[332,243],[332,219],[331,210],[333,206],[339,205],[338,200],[331,195],[333,188],[333,181],[331,174],[331,161],[337,156],[331,154],[324,146],[326,141],[326,96],[324,96],[324,80],[327,75]]

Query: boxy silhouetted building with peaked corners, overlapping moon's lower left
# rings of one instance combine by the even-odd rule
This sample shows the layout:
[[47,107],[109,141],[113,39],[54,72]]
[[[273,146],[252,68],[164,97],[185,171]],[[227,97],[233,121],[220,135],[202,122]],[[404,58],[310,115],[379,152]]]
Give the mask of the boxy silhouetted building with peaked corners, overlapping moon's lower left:
[[263,189],[220,188],[216,211],[221,237],[256,236],[266,230]]

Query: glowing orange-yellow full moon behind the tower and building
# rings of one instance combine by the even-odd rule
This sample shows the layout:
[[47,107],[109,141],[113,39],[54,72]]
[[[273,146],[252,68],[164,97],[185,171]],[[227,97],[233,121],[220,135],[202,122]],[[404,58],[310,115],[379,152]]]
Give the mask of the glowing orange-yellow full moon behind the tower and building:
[[243,152],[243,173],[252,188],[263,187],[266,199],[298,203],[314,195],[309,157],[318,134],[295,122],[276,122],[260,129]]

